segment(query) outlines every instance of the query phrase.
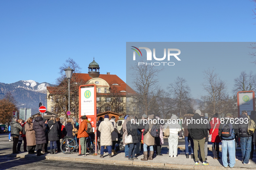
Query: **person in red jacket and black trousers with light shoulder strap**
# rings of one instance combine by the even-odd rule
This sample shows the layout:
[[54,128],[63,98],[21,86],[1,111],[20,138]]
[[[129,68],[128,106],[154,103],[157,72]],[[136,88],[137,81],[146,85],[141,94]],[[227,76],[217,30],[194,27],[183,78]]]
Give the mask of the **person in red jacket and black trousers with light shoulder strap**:
[[[210,135],[211,135],[211,142],[212,142],[212,153],[214,155],[214,159],[220,159],[219,144],[220,144],[221,140],[220,140],[220,136],[218,134],[219,126],[220,126],[220,120],[218,119],[218,113],[214,114],[210,124],[211,124]],[[214,128],[214,126],[215,126],[215,128]]]

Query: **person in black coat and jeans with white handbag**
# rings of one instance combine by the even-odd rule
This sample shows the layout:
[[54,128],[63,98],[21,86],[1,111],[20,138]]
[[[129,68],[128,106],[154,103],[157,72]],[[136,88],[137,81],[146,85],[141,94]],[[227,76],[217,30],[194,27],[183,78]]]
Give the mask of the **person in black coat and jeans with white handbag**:
[[139,142],[139,135],[137,132],[137,126],[135,124],[135,120],[133,116],[131,117],[131,121],[127,122],[126,124],[126,128],[127,128],[127,133],[128,135],[132,135],[133,138],[133,143],[128,144],[129,147],[129,160],[133,161],[133,159],[138,159],[137,157],[135,157],[135,151],[136,151],[136,143]]

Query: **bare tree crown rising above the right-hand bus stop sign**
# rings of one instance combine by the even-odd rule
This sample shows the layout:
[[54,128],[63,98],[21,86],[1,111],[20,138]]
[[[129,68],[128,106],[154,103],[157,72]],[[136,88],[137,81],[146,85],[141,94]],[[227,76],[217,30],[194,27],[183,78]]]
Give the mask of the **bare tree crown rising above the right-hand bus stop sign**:
[[247,74],[245,71],[241,72],[240,76],[234,79],[235,85],[233,92],[236,94],[237,91],[250,91],[256,90],[256,74],[250,71]]

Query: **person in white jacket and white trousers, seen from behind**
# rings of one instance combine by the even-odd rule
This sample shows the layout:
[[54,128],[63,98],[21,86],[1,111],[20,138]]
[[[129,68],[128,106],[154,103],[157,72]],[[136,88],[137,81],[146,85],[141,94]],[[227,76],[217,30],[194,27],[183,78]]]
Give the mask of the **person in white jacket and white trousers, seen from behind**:
[[178,132],[181,131],[181,126],[178,123],[177,116],[173,115],[165,124],[165,129],[169,127],[170,135],[168,137],[169,143],[169,157],[177,157],[178,155]]

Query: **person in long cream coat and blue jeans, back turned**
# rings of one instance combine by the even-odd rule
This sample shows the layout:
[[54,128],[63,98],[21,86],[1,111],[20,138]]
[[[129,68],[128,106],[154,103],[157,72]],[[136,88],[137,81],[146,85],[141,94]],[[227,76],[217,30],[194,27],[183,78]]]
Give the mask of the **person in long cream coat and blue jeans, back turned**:
[[113,124],[109,121],[109,116],[106,114],[104,116],[104,121],[100,123],[98,128],[100,131],[100,157],[103,158],[104,148],[107,147],[109,157],[112,157],[111,148],[112,148],[112,135],[114,131]]

